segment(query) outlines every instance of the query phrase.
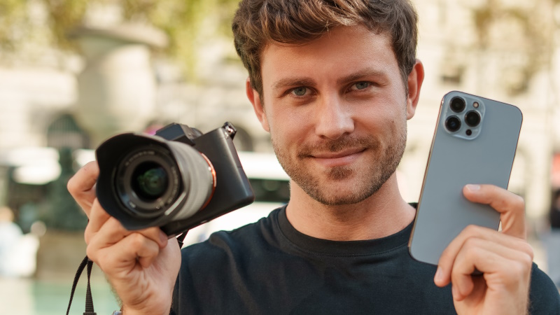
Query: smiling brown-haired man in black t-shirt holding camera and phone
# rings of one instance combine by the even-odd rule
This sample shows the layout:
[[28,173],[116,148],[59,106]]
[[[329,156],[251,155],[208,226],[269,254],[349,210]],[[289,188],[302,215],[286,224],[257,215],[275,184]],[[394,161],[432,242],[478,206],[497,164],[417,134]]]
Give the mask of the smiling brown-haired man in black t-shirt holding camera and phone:
[[106,214],[92,189],[97,165],[86,165],[69,190],[90,217],[87,255],[125,314],[560,312],[551,281],[531,267],[524,202],[506,190],[463,191],[500,212],[502,232],[465,229],[437,271],[407,252],[415,210],[395,169],[423,81],[407,0],[244,0],[233,31],[290,202],[180,258],[158,228],[127,231]]

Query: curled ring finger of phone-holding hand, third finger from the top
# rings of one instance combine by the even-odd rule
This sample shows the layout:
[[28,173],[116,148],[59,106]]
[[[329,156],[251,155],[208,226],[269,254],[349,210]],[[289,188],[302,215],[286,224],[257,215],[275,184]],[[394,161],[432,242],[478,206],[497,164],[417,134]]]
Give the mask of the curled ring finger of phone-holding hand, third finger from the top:
[[518,250],[517,247],[510,248],[476,237],[468,239],[457,254],[451,269],[454,298],[463,300],[470,295],[475,284],[473,281],[479,278],[479,276],[472,276],[472,272],[476,269],[485,275],[493,272],[503,273],[503,268],[508,262],[524,263],[527,260],[528,265],[531,265],[532,257]]

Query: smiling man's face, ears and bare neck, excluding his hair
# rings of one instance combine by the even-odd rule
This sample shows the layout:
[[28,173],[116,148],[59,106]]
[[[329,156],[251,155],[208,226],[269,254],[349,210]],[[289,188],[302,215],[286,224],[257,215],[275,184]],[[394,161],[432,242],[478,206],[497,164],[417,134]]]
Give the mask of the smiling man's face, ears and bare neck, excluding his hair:
[[292,179],[286,216],[296,230],[374,239],[411,223],[414,209],[398,193],[395,170],[421,64],[405,85],[391,36],[356,25],[304,45],[269,43],[260,69],[262,92],[248,80],[247,94]]

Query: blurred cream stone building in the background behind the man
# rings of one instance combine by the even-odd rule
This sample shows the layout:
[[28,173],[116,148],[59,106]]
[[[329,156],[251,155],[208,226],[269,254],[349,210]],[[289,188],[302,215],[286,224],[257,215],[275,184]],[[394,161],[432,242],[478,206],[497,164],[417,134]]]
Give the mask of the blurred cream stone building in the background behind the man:
[[[542,228],[560,152],[559,9],[552,1],[414,2],[426,79],[399,167],[405,199],[418,200],[442,95],[461,90],[523,111],[510,190],[525,197],[533,228]],[[207,38],[196,54],[197,79],[186,80],[174,62],[152,54],[166,44],[160,31],[109,19],[72,36],[82,55],[37,41],[0,64],[0,204],[18,213],[32,206],[26,198],[40,203],[45,185],[64,172],[62,148],[95,148],[117,132],[172,122],[207,132],[230,121],[239,150],[272,151],[246,100],[246,71],[230,38]]]

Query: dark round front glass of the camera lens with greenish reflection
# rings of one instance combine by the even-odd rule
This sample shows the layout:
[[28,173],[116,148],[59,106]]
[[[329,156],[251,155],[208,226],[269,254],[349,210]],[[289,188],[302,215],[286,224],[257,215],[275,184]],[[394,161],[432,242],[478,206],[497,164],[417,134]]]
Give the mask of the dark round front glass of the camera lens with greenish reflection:
[[139,164],[132,172],[130,186],[137,196],[146,202],[162,197],[169,185],[165,169],[155,162]]

